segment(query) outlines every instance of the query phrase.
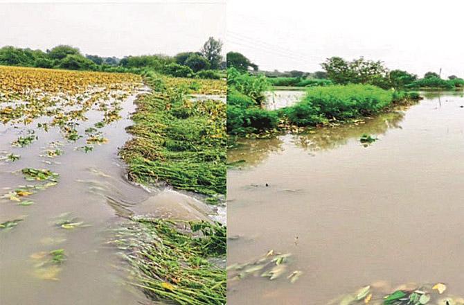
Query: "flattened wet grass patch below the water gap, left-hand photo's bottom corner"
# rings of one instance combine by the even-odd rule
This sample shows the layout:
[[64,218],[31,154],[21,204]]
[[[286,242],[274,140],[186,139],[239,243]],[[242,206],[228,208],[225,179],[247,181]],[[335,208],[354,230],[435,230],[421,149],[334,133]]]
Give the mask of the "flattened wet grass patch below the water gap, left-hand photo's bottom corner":
[[226,255],[226,228],[219,223],[132,218],[115,243],[128,251],[134,286],[153,299],[226,304],[226,270],[210,260]]

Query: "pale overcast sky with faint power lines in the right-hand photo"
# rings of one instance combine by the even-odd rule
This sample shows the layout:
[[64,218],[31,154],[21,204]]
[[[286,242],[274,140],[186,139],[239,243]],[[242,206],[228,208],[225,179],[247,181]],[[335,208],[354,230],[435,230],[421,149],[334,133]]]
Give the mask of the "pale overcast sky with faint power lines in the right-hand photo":
[[318,71],[332,56],[464,77],[462,0],[229,0],[227,51],[260,69]]

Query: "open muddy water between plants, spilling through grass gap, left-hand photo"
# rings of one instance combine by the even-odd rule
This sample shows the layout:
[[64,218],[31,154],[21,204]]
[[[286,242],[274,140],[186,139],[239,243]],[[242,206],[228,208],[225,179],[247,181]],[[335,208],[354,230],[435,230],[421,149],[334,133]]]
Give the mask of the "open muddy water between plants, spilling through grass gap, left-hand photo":
[[[20,185],[35,184],[24,180],[21,168],[48,168],[60,174],[56,186],[26,198],[34,202],[32,205],[0,199],[0,223],[24,219],[8,232],[0,230],[0,304],[148,304],[140,290],[127,284],[128,266],[116,247],[108,244],[111,229],[131,214],[186,220],[204,219],[210,214],[221,218],[217,211],[186,193],[165,187],[148,189],[127,181],[117,153],[130,139],[125,127],[132,125],[128,118],[135,109],[134,98],[122,103],[123,119],[100,129],[108,143],[96,145],[89,153],[75,150],[85,145],[85,137],[69,143],[57,128],[35,130],[38,141],[14,148],[10,143],[37,122],[26,127],[0,125],[0,156],[7,152],[21,155],[16,162],[0,161],[0,197]],[[89,121],[78,127],[80,134],[102,119],[97,111],[87,117]],[[41,157],[53,141],[62,141],[64,154],[53,159]],[[62,214],[82,224],[73,229],[56,225]],[[40,267],[41,252],[56,249],[64,249],[66,254],[60,272]]]

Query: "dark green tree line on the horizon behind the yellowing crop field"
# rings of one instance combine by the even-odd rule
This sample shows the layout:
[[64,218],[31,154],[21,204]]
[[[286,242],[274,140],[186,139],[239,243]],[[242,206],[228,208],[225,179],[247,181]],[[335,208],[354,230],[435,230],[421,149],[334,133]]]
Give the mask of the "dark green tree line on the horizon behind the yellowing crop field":
[[145,73],[155,71],[176,77],[217,78],[217,73],[201,73],[208,69],[223,69],[222,42],[210,37],[201,52],[183,52],[174,57],[167,55],[139,55],[125,58],[102,58],[98,55],[82,55],[73,46],[60,45],[46,52],[20,49],[14,46],[0,48],[0,65],[69,69],[117,73]]

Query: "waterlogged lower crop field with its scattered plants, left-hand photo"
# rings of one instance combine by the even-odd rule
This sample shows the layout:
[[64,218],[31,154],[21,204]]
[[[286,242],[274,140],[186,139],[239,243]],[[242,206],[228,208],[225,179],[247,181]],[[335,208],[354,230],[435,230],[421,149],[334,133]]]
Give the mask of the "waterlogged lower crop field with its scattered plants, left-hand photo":
[[118,148],[130,139],[140,85],[95,100],[46,88],[33,97],[17,89],[22,102],[0,95],[0,304],[148,304],[109,244],[112,230],[132,214],[216,215],[186,193],[127,181]]

